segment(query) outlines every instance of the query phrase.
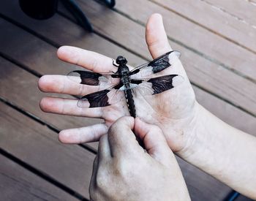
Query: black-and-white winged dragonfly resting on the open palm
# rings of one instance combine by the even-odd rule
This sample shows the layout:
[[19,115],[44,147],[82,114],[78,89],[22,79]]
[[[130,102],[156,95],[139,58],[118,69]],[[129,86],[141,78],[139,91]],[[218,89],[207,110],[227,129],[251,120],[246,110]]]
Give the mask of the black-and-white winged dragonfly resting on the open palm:
[[184,80],[177,74],[156,77],[157,73],[172,67],[180,56],[181,53],[172,50],[132,70],[127,67],[127,59],[118,56],[116,61],[113,60],[113,66],[117,67],[116,72],[75,70],[69,72],[67,76],[82,85],[101,88],[99,91],[82,96],[78,100],[78,107],[107,107],[125,99],[129,114],[135,118],[134,96],[160,94],[178,86]]

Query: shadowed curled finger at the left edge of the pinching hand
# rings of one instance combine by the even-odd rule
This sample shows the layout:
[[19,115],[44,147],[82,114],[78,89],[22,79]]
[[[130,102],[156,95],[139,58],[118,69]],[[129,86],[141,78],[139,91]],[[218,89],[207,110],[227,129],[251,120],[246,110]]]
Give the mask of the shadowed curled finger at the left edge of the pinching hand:
[[[99,146],[98,146],[98,156],[99,162],[104,165],[111,157],[110,153],[110,146],[108,143],[108,135],[103,134],[102,137],[99,139]],[[101,165],[99,164],[99,165]]]

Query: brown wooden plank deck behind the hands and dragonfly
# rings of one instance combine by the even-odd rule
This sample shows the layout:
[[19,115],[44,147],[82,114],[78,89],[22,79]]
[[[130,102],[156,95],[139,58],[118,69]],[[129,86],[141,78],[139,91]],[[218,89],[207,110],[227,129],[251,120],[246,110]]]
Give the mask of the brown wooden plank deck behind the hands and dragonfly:
[[[78,0],[94,33],[74,23],[61,5],[53,18],[32,20],[18,0],[0,2],[0,200],[89,200],[97,144],[63,145],[61,129],[97,120],[45,114],[37,81],[66,75],[72,66],[56,58],[61,45],[94,50],[129,64],[151,57],[145,23],[162,14],[170,43],[198,102],[228,124],[256,135],[255,0],[116,0],[113,10]],[[192,200],[225,200],[232,189],[178,159]],[[238,197],[238,200],[249,200]]]

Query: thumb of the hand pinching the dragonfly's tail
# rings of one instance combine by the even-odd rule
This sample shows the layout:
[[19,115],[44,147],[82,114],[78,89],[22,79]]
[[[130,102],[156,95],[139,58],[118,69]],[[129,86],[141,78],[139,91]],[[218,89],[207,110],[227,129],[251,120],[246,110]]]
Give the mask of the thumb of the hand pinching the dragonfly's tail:
[[162,130],[156,125],[141,121],[140,118],[135,118],[134,129],[135,134],[143,140],[148,154],[162,164],[169,164],[174,154],[167,145]]

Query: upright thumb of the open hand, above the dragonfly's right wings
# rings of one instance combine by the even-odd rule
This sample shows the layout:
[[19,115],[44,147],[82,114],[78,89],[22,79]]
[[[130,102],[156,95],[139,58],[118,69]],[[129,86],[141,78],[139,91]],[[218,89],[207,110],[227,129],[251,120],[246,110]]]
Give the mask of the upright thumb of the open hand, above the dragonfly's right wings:
[[165,33],[162,16],[158,13],[151,15],[146,24],[146,43],[153,58],[157,58],[172,50]]

